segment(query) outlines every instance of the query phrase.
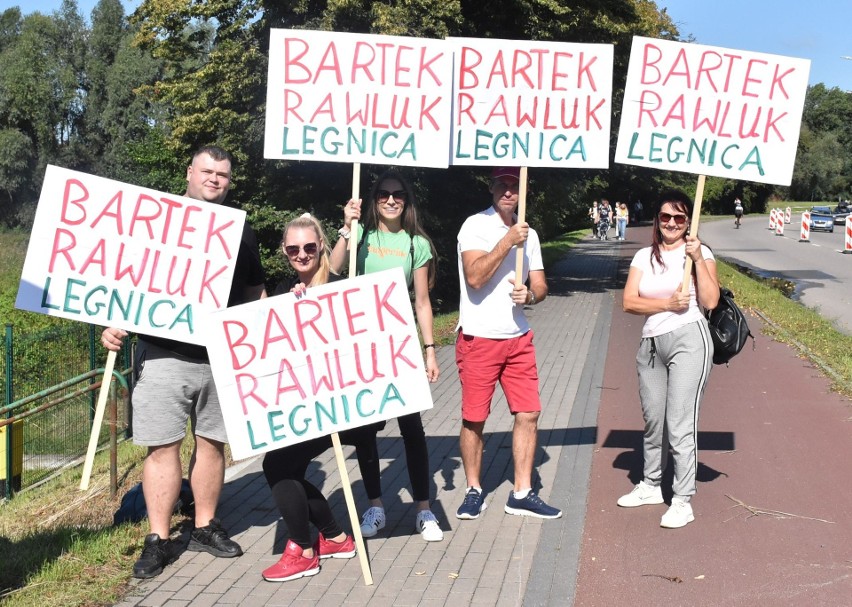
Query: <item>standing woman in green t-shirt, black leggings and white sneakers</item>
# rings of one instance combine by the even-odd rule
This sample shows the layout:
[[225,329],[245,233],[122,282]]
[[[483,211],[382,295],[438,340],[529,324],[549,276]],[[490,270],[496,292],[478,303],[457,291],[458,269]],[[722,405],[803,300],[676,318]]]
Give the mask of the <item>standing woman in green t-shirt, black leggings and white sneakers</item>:
[[[382,173],[370,191],[369,203],[362,208],[360,200],[350,200],[343,211],[340,239],[331,254],[331,267],[344,271],[350,238],[357,243],[356,273],[366,274],[402,267],[409,288],[414,287],[414,311],[426,353],[426,375],[438,381],[440,369],[432,338],[432,303],[429,289],[435,284],[437,253],[432,240],[423,230],[417,216],[417,201],[411,184],[397,171]],[[351,233],[352,220],[358,220],[358,233]],[[397,418],[405,444],[405,459],[412,494],[417,505],[415,529],[427,542],[439,542],[444,532],[429,506],[429,450],[420,413]],[[361,467],[361,476],[377,479],[378,466]],[[372,537],[386,523],[381,494],[371,496],[370,508],[364,513],[361,533]]]

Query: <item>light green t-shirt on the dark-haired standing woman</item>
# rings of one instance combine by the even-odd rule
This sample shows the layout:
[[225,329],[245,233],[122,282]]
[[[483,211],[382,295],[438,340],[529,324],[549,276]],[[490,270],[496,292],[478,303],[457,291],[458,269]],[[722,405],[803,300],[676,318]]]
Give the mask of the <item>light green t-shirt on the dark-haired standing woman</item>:
[[429,242],[422,236],[414,237],[414,260],[411,259],[411,236],[408,232],[380,232],[371,230],[361,242],[363,228],[358,224],[358,257],[355,273],[370,274],[401,267],[405,280],[412,285],[412,270],[425,266],[432,259]]

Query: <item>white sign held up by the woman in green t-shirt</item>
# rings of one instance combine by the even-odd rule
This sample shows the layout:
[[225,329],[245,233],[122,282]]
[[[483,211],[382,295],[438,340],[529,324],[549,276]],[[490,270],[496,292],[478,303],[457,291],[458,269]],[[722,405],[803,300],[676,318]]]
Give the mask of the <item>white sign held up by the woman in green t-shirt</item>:
[[264,157],[447,166],[444,40],[273,29]]

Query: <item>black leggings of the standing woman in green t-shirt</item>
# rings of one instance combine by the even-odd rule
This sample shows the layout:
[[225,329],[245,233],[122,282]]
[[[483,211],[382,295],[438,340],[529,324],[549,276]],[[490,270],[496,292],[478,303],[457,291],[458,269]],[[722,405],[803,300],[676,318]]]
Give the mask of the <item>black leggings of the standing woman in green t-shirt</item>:
[[[423,431],[423,421],[420,413],[411,413],[397,418],[399,433],[405,444],[405,461],[408,467],[408,479],[411,481],[411,492],[415,502],[429,500],[429,449],[426,446],[426,433]],[[365,445],[365,449],[369,446]],[[382,496],[382,481],[379,473],[379,459],[371,459],[368,453],[361,456],[362,447],[356,445],[358,451],[358,467],[361,478],[367,488],[367,497],[371,500]],[[371,488],[375,492],[371,493]]]

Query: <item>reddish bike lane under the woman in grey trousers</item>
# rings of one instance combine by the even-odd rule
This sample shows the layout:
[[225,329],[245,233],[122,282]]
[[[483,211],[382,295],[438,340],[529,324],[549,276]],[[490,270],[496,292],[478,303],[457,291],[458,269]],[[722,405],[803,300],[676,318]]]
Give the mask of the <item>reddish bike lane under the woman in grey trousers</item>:
[[695,521],[616,505],[641,479],[644,319],[614,295],[574,604],[852,605],[852,402],[755,316],[755,349],[714,366],[702,403]]

